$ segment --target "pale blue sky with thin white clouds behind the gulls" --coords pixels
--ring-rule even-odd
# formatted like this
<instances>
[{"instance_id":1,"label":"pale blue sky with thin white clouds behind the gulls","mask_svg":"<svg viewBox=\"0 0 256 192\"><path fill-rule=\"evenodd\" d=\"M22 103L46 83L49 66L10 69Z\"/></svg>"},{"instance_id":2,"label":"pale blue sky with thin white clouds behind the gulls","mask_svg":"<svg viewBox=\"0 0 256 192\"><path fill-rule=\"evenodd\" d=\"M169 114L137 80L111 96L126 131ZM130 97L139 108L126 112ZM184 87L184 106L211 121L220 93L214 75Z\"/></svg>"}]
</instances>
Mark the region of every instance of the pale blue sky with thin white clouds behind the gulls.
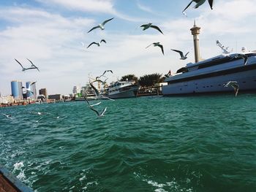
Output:
<instances>
[{"instance_id":1,"label":"pale blue sky with thin white clouds behind the gulls","mask_svg":"<svg viewBox=\"0 0 256 192\"><path fill-rule=\"evenodd\" d=\"M194 62L190 28L200 26L201 58L222 54L216 41L240 52L241 47L256 50L256 0L215 0L194 9L190 0L0 0L0 93L11 94L11 81L37 81L37 91L48 94L72 93L75 85L86 85L89 77L105 70L108 82L126 74L175 73ZM105 30L92 27L104 20ZM140 27L153 23L154 28ZM105 39L106 44L91 45ZM83 47L82 43L86 46ZM165 51L148 45L160 42ZM170 49L189 52L187 60ZM21 71L17 59L29 67L29 58L37 70Z\"/></svg>"}]
</instances>

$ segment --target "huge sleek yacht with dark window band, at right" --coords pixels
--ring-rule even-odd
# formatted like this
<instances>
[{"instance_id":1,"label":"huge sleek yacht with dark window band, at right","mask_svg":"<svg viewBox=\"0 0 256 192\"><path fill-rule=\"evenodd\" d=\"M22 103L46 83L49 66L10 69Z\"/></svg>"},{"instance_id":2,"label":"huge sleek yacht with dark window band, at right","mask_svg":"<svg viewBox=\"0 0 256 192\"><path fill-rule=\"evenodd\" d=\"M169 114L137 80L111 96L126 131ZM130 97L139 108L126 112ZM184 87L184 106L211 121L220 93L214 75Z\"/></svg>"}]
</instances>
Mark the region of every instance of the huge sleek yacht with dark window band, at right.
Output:
<instances>
[{"instance_id":1,"label":"huge sleek yacht with dark window band, at right","mask_svg":"<svg viewBox=\"0 0 256 192\"><path fill-rule=\"evenodd\" d=\"M246 60L247 59L247 60ZM224 87L236 81L239 91L256 91L256 51L230 53L189 63L165 79L163 96L233 91Z\"/></svg>"}]
</instances>

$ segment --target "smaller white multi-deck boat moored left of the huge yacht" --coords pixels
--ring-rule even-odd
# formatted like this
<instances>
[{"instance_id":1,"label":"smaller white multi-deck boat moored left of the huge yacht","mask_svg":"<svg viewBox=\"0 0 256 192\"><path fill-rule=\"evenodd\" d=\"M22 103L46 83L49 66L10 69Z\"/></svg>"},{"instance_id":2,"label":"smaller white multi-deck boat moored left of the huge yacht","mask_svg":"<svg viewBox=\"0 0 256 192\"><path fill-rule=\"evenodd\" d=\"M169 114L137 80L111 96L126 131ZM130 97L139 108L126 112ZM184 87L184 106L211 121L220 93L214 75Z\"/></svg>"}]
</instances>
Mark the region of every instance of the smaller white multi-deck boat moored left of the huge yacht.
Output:
<instances>
[{"instance_id":1,"label":"smaller white multi-deck boat moored left of the huge yacht","mask_svg":"<svg viewBox=\"0 0 256 192\"><path fill-rule=\"evenodd\" d=\"M105 96L110 99L121 99L137 96L139 91L139 85L136 85L133 81L116 81L111 82L110 85L105 88Z\"/></svg>"}]
</instances>

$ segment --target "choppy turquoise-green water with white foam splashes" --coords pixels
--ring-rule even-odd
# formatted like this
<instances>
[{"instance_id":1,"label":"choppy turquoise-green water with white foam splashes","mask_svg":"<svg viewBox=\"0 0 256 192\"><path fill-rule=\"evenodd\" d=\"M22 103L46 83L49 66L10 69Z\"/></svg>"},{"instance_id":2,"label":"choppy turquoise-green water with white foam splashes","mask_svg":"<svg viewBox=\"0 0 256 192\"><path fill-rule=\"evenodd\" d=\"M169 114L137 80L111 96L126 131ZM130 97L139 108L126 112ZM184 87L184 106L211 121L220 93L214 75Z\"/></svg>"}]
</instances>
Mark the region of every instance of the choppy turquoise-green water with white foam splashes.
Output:
<instances>
[{"instance_id":1,"label":"choppy turquoise-green water with white foam splashes","mask_svg":"<svg viewBox=\"0 0 256 192\"><path fill-rule=\"evenodd\" d=\"M0 116L0 164L34 191L256 191L255 94L103 107L1 108L13 119Z\"/></svg>"}]
</instances>

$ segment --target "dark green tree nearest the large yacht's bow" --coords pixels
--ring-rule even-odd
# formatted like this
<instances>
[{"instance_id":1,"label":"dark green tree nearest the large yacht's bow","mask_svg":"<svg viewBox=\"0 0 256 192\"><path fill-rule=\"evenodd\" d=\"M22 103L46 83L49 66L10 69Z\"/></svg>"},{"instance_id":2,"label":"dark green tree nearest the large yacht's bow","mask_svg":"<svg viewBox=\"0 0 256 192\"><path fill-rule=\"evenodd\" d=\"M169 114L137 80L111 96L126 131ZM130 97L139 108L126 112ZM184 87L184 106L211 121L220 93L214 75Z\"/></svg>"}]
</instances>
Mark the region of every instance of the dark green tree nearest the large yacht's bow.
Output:
<instances>
[{"instance_id":1,"label":"dark green tree nearest the large yacht's bow","mask_svg":"<svg viewBox=\"0 0 256 192\"><path fill-rule=\"evenodd\" d=\"M140 77L138 80L140 86L142 87L152 87L157 82L162 82L162 74L154 73L154 74L145 74L144 76Z\"/></svg>"}]
</instances>

